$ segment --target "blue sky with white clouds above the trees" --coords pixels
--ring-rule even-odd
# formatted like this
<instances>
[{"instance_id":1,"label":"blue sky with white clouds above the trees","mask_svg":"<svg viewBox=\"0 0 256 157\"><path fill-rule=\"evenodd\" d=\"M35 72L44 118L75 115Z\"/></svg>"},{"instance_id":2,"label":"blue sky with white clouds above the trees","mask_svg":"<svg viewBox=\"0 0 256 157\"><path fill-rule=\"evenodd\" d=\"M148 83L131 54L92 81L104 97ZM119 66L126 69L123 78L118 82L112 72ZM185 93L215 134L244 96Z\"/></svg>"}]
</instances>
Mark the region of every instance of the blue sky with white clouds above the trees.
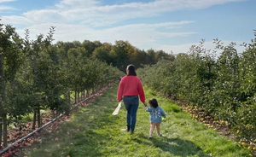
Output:
<instances>
[{"instance_id":1,"label":"blue sky with white clouds above the trees","mask_svg":"<svg viewBox=\"0 0 256 157\"><path fill-rule=\"evenodd\" d=\"M256 0L0 0L0 22L31 39L55 26L56 41L128 40L138 49L186 53L206 39L250 43Z\"/></svg>"}]
</instances>

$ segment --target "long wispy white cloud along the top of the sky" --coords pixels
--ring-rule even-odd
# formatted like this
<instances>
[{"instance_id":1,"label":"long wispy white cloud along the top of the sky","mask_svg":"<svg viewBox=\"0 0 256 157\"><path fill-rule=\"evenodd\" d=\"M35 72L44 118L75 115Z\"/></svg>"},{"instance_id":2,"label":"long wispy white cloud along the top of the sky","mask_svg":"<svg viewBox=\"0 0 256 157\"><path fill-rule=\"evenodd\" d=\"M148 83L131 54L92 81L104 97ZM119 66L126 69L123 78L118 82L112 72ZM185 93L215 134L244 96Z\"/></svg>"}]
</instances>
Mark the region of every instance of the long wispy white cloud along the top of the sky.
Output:
<instances>
[{"instance_id":1,"label":"long wispy white cloud along the top of the sky","mask_svg":"<svg viewBox=\"0 0 256 157\"><path fill-rule=\"evenodd\" d=\"M8 0L2 0L8 1ZM52 9L32 10L16 18L26 18L35 24L45 22L83 22L90 26L106 26L122 20L152 17L183 9L206 9L213 5L244 0L155 0L149 3L102 5L96 0L61 0ZM3 21L10 22L2 17Z\"/></svg>"}]
</instances>

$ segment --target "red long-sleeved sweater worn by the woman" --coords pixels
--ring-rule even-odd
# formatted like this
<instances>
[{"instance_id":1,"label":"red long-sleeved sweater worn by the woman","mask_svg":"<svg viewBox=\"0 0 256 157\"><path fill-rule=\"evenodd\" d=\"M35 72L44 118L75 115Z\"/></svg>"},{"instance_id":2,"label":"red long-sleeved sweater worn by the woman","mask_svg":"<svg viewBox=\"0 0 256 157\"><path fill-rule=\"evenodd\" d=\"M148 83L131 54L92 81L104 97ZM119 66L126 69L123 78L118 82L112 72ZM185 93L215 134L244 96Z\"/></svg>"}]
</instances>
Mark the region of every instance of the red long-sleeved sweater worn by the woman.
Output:
<instances>
[{"instance_id":1,"label":"red long-sleeved sweater worn by the woman","mask_svg":"<svg viewBox=\"0 0 256 157\"><path fill-rule=\"evenodd\" d=\"M117 99L122 101L123 96L140 96L141 101L145 102L143 84L137 76L125 76L119 84Z\"/></svg>"}]
</instances>

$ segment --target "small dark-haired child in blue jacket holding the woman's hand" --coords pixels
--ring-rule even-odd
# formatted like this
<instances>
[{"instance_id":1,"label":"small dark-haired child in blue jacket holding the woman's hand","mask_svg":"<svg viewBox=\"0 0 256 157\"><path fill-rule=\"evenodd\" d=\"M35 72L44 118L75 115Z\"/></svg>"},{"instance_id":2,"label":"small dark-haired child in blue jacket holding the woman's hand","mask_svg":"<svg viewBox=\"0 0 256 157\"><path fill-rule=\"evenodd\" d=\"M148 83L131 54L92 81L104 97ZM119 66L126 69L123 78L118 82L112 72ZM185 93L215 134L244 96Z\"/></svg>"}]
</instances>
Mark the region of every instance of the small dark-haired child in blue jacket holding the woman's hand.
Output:
<instances>
[{"instance_id":1,"label":"small dark-haired child in blue jacket holding the woman's hand","mask_svg":"<svg viewBox=\"0 0 256 157\"><path fill-rule=\"evenodd\" d=\"M154 132L154 127L156 126L157 130L157 135L162 136L160 134L160 123L162 121L161 117L163 116L166 118L166 113L160 106L158 106L158 103L156 99L150 99L149 104L151 108L146 107L146 111L150 112L150 122L151 122L151 127L149 131L149 138L153 137L153 132Z\"/></svg>"}]
</instances>

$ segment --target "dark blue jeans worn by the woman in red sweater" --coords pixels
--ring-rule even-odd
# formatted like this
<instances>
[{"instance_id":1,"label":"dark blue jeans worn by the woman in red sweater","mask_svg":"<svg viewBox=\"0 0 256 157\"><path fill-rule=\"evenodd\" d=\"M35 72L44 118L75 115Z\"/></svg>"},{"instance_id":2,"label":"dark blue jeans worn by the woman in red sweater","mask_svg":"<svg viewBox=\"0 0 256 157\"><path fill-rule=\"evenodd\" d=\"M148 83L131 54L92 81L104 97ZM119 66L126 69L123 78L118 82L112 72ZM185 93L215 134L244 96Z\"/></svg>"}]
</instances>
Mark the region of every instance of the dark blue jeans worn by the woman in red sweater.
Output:
<instances>
[{"instance_id":1,"label":"dark blue jeans worn by the woman in red sweater","mask_svg":"<svg viewBox=\"0 0 256 157\"><path fill-rule=\"evenodd\" d=\"M127 125L131 125L131 132L134 131L136 125L137 108L139 105L138 96L124 96L124 104L127 110Z\"/></svg>"}]
</instances>

